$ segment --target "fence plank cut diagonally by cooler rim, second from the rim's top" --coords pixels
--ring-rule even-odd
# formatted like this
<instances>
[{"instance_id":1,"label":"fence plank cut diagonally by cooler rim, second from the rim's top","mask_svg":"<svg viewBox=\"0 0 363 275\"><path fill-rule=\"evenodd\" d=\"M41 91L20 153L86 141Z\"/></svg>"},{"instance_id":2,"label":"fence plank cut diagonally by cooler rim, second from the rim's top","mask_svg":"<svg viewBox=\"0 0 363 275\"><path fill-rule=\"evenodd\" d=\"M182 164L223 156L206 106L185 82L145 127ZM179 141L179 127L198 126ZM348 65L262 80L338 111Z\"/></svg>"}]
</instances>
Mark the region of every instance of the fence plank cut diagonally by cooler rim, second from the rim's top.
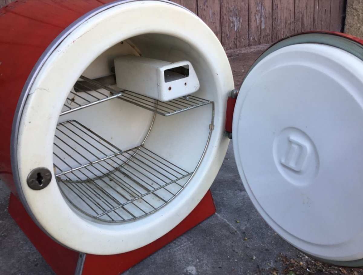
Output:
<instances>
[{"instance_id":1,"label":"fence plank cut diagonally by cooler rim, second from the rim's top","mask_svg":"<svg viewBox=\"0 0 363 275\"><path fill-rule=\"evenodd\" d=\"M219 0L197 0L198 16L221 41L221 13Z\"/></svg>"}]
</instances>

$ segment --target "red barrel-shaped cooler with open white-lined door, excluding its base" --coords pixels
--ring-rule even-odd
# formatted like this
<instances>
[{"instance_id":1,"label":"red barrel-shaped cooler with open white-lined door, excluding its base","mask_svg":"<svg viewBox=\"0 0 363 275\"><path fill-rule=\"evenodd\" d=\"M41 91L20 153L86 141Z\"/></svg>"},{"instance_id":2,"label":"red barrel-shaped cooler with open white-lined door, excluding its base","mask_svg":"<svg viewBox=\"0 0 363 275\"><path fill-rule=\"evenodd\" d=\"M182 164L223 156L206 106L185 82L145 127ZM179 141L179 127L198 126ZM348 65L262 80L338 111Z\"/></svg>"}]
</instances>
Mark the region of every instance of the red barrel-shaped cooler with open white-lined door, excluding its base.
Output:
<instances>
[{"instance_id":1,"label":"red barrel-shaped cooler with open white-lined door, excluding its base","mask_svg":"<svg viewBox=\"0 0 363 275\"><path fill-rule=\"evenodd\" d=\"M183 221L231 137L231 67L207 25L168 1L20 1L0 20L0 175L33 221L96 255ZM362 45L339 33L272 45L228 127L262 217L303 252L346 266L363 258Z\"/></svg>"}]
</instances>

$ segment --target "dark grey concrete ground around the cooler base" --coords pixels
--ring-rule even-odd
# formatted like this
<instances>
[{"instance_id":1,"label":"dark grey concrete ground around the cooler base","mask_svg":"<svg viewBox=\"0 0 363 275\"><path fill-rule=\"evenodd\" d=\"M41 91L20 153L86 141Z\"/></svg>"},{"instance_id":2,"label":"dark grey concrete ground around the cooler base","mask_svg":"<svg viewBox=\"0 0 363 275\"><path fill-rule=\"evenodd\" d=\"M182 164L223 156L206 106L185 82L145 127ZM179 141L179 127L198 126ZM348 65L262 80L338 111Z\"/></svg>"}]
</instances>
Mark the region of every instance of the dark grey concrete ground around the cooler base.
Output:
<instances>
[{"instance_id":1,"label":"dark grey concrete ground around the cooler base","mask_svg":"<svg viewBox=\"0 0 363 275\"><path fill-rule=\"evenodd\" d=\"M280 254L293 259L302 254L254 209L238 175L232 143L211 190L215 215L124 274L289 274L282 272ZM9 216L8 196L0 183L0 274L54 274Z\"/></svg>"}]
</instances>

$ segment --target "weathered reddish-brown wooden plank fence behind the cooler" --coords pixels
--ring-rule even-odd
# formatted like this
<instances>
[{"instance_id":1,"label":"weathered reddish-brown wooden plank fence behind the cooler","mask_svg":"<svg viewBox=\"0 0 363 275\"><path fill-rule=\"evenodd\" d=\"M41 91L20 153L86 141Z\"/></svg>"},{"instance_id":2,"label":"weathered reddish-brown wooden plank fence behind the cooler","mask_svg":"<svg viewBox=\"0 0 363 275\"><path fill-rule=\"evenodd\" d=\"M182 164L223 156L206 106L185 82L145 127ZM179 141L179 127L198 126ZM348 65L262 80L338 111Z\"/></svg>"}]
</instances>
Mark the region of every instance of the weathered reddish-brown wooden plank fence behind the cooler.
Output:
<instances>
[{"instance_id":1,"label":"weathered reddish-brown wooden plank fence behind the cooler","mask_svg":"<svg viewBox=\"0 0 363 275\"><path fill-rule=\"evenodd\" d=\"M0 8L14 0L0 0ZM35 1L35 0L33 0ZM238 87L254 60L293 33L343 31L346 0L172 0L198 15L226 50Z\"/></svg>"}]
</instances>

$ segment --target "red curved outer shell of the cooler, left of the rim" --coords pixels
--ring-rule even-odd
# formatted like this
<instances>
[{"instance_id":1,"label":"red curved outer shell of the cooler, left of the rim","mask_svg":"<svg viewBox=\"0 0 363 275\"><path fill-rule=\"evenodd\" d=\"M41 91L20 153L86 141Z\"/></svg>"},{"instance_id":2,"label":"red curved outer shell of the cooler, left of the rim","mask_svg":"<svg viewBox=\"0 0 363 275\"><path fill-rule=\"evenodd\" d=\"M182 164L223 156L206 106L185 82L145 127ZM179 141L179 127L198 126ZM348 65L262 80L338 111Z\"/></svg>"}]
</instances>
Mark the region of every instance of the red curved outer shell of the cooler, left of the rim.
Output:
<instances>
[{"instance_id":1,"label":"red curved outer shell of the cooler, left of the rim","mask_svg":"<svg viewBox=\"0 0 363 275\"><path fill-rule=\"evenodd\" d=\"M26 79L48 45L85 13L110 1L15 1L0 9L0 179L16 194L10 137Z\"/></svg>"}]
</instances>

